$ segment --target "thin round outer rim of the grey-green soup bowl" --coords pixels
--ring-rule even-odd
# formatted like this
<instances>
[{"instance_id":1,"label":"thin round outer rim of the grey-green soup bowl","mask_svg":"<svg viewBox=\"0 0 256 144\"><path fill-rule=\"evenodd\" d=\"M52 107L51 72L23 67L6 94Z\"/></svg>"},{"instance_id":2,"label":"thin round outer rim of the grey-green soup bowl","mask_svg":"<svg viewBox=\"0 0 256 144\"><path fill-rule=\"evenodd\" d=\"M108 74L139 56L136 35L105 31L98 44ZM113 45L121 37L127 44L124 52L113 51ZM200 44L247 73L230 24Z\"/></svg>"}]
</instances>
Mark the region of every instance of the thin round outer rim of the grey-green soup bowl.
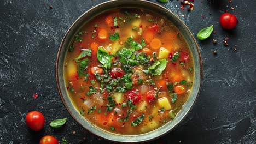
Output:
<instances>
[{"instance_id":1,"label":"thin round outer rim of the grey-green soup bowl","mask_svg":"<svg viewBox=\"0 0 256 144\"><path fill-rule=\"evenodd\" d=\"M62 91L61 91L61 86L60 86L60 81L59 81L59 72L58 72L58 70L59 70L60 55L61 55L60 53L61 53L62 49L65 49L65 48L63 47L63 44L64 44L64 41L66 40L67 36L69 35L69 32L71 31L71 29L74 28L75 24L76 24L80 19L82 19L82 17L83 17L84 15L86 15L89 11L91 11L91 10L93 10L93 9L96 9L97 7L100 7L100 6L104 5L104 4L112 3L112 2L118 2L118 1L119 1L119 0L110 0L110 1L107 1L107 2L103 2L103 3L97 4L95 7L90 8L89 10L85 11L82 15L80 15L80 16L72 23L72 25L68 28L67 32L65 33L65 36L63 37L63 39L62 39L62 41L61 41L61 44L60 44L60 47L59 47L59 51L57 52L57 59L56 59L56 66L55 66L55 79L56 79L56 83L57 83L57 89L58 89L58 93L59 93L59 95L60 95L60 97L61 97L62 103L63 103L63 105L66 107L66 109L67 109L69 115L71 115L72 118L73 118L79 125L81 125L84 129L86 129L86 130L89 131L90 133L92 133L92 134L94 134L94 135L96 135L96 136L98 136L98 137L101 137L101 138L104 139L104 140L114 141L114 142L129 142L129 143L132 142L132 143L138 143L138 142L152 141L152 140L158 139L159 137L162 137L162 136L168 134L170 131L172 131L173 129L175 129L182 121L184 121L185 117L187 117L188 114L190 113L190 111L193 109L193 106L195 105L196 100L197 100L197 98L199 97L200 90L201 90L201 85L202 85L202 78L203 78L203 75L202 75L203 67L202 67L201 53L200 53L199 46L198 46L198 44L197 44L197 42L196 42L196 40L195 40L195 38L194 38L194 36L193 36L193 33L190 32L190 30L189 30L189 28L187 27L187 25L185 25L185 23L184 23L181 19L179 19L179 17L178 17L176 14L172 13L171 10L169 10L169 9L167 9L167 8L165 8L165 7L163 7L162 5L159 5L159 4L154 3L154 2L146 1L146 0L125 0L125 1L129 1L129 2L138 2L138 1L140 1L140 2L144 2L144 3L148 3L148 4L153 4L153 5L155 5L155 7L159 7L159 8L161 8L161 9L164 9L165 11L167 11L168 13L170 13L170 15L172 15L173 17L175 17L176 20L177 20L179 23L182 23L182 25L185 27L185 31L187 31L187 32L190 34L190 36L191 36L191 38L192 38L192 40L193 40L193 42L194 42L194 44L195 44L196 51L197 51L197 55L198 55L198 57L199 57L199 65L200 65L200 77L199 77L199 78L200 78L200 80L199 80L200 85L199 85L199 89L198 89L198 91L197 91L197 93L196 93L196 95L195 95L195 99L194 99L194 101L193 101L193 104L190 105L189 109L185 112L185 115L183 115L182 118L179 119L179 121L178 121L172 128L168 129L168 131L166 131L165 133L163 133L163 134L161 134L161 135L159 135L159 136L155 136L155 137L153 137L153 138L151 138L151 139L146 139L146 140L138 140L138 141L118 141L118 140L108 139L107 137L103 137L103 136L101 136L101 135L98 135L98 134L94 133L94 131L91 131L91 130L89 130L88 128L84 127L84 125L78 121L78 118L75 117L75 115L73 114L73 112L69 109L68 105L66 104L65 99L63 98L63 95L62 95ZM113 8L113 9L114 9L114 8ZM185 39L186 39L186 38L185 38ZM191 48L190 48L190 49L191 49ZM195 71L194 71L194 73L195 73ZM159 129L159 128L158 128L158 129ZM103 131L105 131L105 130L103 130ZM112 133L110 133L110 134L112 134ZM147 133L146 133L146 134L147 134ZM116 134L116 135L118 135L118 134ZM125 136L125 135L123 135L123 136ZM130 135L129 135L129 136L130 136ZM135 135L135 136L136 136L136 135Z\"/></svg>"}]
</instances>

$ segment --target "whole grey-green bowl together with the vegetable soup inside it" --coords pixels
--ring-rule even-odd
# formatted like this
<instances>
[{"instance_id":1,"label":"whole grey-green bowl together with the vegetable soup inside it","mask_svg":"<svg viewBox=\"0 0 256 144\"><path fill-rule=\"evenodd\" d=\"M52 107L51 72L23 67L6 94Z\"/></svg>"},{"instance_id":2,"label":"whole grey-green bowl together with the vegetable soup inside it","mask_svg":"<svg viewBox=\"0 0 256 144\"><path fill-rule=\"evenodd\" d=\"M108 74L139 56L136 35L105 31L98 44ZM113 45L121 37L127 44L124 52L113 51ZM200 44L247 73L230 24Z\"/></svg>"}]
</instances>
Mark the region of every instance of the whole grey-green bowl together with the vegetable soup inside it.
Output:
<instances>
[{"instance_id":1,"label":"whole grey-green bowl together with the vegetable soup inside it","mask_svg":"<svg viewBox=\"0 0 256 144\"><path fill-rule=\"evenodd\" d=\"M170 10L148 1L108 1L68 29L56 81L83 128L110 141L144 142L188 115L202 62L193 34Z\"/></svg>"}]
</instances>

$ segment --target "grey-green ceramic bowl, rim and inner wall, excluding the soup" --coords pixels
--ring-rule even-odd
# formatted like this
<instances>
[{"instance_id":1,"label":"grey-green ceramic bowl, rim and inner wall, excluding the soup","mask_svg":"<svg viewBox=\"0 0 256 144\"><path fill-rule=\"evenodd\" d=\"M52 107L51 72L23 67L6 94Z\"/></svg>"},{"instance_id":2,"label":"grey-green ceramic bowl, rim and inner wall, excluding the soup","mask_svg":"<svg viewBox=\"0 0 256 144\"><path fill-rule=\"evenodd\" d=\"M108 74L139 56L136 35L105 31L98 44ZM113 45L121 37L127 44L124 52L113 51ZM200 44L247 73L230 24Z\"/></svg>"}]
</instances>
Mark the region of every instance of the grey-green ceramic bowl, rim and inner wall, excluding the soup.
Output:
<instances>
[{"instance_id":1,"label":"grey-green ceramic bowl, rim and inner wall, excluding the soup","mask_svg":"<svg viewBox=\"0 0 256 144\"><path fill-rule=\"evenodd\" d=\"M153 11L156 14L166 17L167 20L171 21L182 33L188 45L190 46L191 53L194 58L194 82L193 89L191 91L188 101L184 104L183 109L179 111L176 118L173 121L166 123L164 126L150 131L145 134L139 135L120 135L110 133L106 130L96 127L96 125L91 124L86 118L80 115L79 111L75 109L75 106L72 104L72 100L69 98L67 93L66 85L64 82L64 62L65 56L68 51L68 46L71 43L75 33L91 19L94 19L98 14L104 13L105 11L116 9L116 8L142 8ZM91 8L82 14L68 29L64 38L62 39L59 52L57 54L56 62L56 81L59 94L65 105L66 109L70 115L77 121L83 128L90 131L91 133L102 137L103 139L114 141L114 142L145 142L159 138L173 130L177 127L179 123L188 115L192 109L195 101L199 95L201 82L202 82L202 61L200 56L199 47L196 44L196 40L193 37L193 34L189 31L188 27L170 10L162 7L161 5L155 4L149 1L140 1L140 0L114 0L108 1L101 4L98 4L96 7Z\"/></svg>"}]
</instances>

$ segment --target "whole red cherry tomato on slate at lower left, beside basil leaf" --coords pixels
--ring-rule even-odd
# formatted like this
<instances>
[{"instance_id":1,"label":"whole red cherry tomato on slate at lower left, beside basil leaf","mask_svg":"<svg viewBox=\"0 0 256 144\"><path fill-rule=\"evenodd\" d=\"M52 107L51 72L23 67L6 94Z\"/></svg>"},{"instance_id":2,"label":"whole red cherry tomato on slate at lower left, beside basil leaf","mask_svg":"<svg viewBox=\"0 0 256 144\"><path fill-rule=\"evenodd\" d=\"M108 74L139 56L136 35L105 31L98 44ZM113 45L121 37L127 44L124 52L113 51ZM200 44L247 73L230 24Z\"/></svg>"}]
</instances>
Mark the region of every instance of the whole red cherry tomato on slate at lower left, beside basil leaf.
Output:
<instances>
[{"instance_id":1,"label":"whole red cherry tomato on slate at lower left, beside basil leaf","mask_svg":"<svg viewBox=\"0 0 256 144\"><path fill-rule=\"evenodd\" d=\"M31 111L26 116L27 126L34 130L39 131L44 127L44 115L38 111Z\"/></svg>"}]
</instances>

